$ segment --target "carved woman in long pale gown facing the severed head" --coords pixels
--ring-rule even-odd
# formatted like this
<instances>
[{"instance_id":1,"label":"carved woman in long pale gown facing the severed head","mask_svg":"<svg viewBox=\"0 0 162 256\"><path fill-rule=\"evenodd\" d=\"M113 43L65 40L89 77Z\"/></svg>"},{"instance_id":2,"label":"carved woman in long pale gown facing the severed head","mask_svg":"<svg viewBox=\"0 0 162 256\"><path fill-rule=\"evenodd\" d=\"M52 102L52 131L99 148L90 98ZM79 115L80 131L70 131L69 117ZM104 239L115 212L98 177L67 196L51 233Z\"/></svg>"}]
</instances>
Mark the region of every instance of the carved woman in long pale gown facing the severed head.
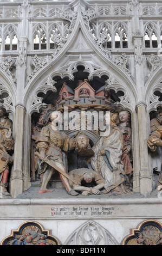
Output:
<instances>
[{"instance_id":1,"label":"carved woman in long pale gown facing the severed head","mask_svg":"<svg viewBox=\"0 0 162 256\"><path fill-rule=\"evenodd\" d=\"M124 140L122 132L116 125L118 114L111 114L111 129L105 132L96 145L93 146L94 156L91 157L92 168L102 175L106 181L106 193L131 193L125 186L126 174L121 161ZM109 122L105 117L105 123ZM106 134L107 133L107 134Z\"/></svg>"}]
</instances>

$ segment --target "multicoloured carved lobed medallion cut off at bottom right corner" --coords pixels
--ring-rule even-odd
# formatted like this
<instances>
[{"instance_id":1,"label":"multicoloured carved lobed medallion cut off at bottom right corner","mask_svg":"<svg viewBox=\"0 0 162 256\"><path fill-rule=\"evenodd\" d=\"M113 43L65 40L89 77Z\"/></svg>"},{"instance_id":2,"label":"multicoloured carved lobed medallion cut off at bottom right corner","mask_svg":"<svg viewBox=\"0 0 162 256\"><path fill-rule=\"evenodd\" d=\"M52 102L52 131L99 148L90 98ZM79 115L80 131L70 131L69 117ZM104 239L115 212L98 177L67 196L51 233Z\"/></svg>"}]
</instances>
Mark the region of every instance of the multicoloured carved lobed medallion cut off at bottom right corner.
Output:
<instances>
[{"instance_id":1,"label":"multicoloured carved lobed medallion cut off at bottom right corner","mask_svg":"<svg viewBox=\"0 0 162 256\"><path fill-rule=\"evenodd\" d=\"M147 220L130 229L130 234L124 237L120 245L153 245L157 243L162 231L162 224L158 221ZM139 235L142 237L139 238ZM139 240L138 240L139 239Z\"/></svg>"}]
</instances>

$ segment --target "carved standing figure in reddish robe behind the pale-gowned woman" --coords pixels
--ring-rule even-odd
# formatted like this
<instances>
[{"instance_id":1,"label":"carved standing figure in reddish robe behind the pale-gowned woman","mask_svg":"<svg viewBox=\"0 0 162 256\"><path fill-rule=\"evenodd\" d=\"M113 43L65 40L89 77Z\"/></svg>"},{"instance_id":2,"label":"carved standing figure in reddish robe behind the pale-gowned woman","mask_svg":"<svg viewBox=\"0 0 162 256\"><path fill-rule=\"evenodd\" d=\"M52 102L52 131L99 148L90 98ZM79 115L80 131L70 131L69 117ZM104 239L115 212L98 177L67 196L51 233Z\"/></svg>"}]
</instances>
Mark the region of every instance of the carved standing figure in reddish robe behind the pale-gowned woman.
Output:
<instances>
[{"instance_id":1,"label":"carved standing figure in reddish robe behind the pale-gowned woman","mask_svg":"<svg viewBox=\"0 0 162 256\"><path fill-rule=\"evenodd\" d=\"M119 113L119 129L122 132L123 139L124 139L124 145L122 149L122 156L121 160L124 164L124 170L126 175L129 179L129 185L131 185L132 181L132 175L133 175L133 168L131 163L131 149L132 149L132 130L128 126L129 122L129 112L128 111L121 111Z\"/></svg>"}]
</instances>

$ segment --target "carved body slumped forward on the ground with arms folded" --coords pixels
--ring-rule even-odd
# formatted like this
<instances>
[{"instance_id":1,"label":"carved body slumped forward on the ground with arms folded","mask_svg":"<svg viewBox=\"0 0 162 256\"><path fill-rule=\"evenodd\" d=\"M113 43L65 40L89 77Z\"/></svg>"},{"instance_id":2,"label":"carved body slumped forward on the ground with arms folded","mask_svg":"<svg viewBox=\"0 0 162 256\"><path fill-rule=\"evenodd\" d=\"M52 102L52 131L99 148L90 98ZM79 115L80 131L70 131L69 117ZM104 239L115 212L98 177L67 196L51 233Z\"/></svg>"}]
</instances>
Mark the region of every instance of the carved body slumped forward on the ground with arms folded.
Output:
<instances>
[{"instance_id":1,"label":"carved body slumped forward on the ground with arms folded","mask_svg":"<svg viewBox=\"0 0 162 256\"><path fill-rule=\"evenodd\" d=\"M69 181L70 185L75 191L81 191L83 196L88 196L89 194L101 194L100 190L105 185L105 180L103 180L102 176L92 169L74 169L69 172L69 176L76 181L76 184Z\"/></svg>"}]
</instances>

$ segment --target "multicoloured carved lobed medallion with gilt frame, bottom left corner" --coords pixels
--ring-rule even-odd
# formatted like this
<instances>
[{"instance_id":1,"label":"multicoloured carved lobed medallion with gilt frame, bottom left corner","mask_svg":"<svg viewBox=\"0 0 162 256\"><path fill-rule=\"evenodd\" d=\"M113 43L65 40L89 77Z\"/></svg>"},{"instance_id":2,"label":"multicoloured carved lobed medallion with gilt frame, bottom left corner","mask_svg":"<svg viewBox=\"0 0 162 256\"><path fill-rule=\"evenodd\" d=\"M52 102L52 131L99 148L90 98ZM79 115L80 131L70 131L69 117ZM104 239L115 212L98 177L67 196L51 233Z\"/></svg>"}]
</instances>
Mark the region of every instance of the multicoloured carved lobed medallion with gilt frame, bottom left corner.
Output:
<instances>
[{"instance_id":1,"label":"multicoloured carved lobed medallion with gilt frame, bottom left corner","mask_svg":"<svg viewBox=\"0 0 162 256\"><path fill-rule=\"evenodd\" d=\"M25 237L25 231L36 231L36 229L38 230L37 235L36 237L34 237L34 239L30 241L31 243L33 243L32 245L37 245L41 234L44 235L44 240L46 240L49 245L61 245L60 241L56 237L51 235L50 230L45 230L40 223L33 221L24 222L20 225L20 227L18 227L17 230L11 230L11 235L5 237L0 245L12 245L14 240L18 239L18 237Z\"/></svg>"}]
</instances>

